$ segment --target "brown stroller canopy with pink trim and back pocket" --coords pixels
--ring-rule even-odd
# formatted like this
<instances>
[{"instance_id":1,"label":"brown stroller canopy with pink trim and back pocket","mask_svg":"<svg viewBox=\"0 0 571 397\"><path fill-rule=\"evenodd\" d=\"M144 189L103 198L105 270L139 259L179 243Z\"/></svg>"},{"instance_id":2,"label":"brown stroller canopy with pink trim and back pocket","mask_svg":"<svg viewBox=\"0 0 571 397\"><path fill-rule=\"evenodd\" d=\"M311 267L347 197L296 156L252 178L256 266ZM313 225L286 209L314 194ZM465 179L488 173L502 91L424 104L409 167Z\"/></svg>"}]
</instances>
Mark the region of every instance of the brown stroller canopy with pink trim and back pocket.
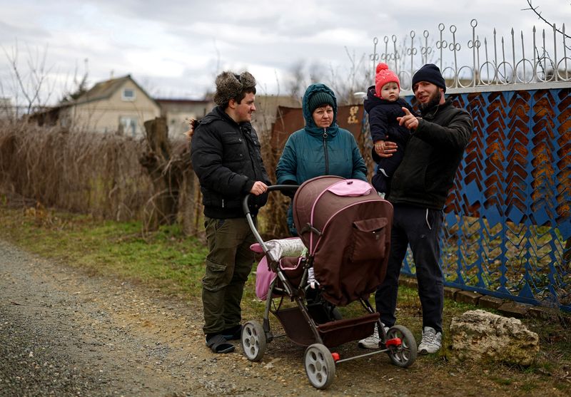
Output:
<instances>
[{"instance_id":1,"label":"brown stroller canopy with pink trim and back pocket","mask_svg":"<svg viewBox=\"0 0 571 397\"><path fill-rule=\"evenodd\" d=\"M393 206L367 182L335 176L304 182L293 200L293 221L325 299L344 306L383 282Z\"/></svg>"}]
</instances>

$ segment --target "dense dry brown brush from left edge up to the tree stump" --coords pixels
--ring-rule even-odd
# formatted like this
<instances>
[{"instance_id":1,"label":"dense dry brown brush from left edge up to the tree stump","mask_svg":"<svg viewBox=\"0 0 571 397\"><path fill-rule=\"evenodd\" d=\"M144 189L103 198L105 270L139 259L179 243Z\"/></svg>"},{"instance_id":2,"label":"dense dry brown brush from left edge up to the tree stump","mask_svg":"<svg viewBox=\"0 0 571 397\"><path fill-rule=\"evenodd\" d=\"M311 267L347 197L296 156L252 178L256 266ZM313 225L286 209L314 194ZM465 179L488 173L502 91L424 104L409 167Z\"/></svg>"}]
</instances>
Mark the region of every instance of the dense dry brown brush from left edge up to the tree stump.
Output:
<instances>
[{"instance_id":1,"label":"dense dry brown brush from left edge up to the tree stump","mask_svg":"<svg viewBox=\"0 0 571 397\"><path fill-rule=\"evenodd\" d=\"M0 188L48 207L138 219L152 195L138 163L143 148L118 135L0 125Z\"/></svg>"}]
</instances>

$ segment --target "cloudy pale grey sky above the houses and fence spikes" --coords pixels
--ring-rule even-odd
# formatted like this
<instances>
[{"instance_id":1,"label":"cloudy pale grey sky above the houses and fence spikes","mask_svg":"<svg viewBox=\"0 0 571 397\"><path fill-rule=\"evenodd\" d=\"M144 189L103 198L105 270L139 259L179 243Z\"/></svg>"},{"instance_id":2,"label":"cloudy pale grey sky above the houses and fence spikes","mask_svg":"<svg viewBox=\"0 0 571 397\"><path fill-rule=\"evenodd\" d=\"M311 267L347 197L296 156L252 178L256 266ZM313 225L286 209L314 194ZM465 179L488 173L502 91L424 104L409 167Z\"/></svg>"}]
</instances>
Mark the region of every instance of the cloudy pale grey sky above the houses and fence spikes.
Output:
<instances>
[{"instance_id":1,"label":"cloudy pale grey sky above the houses and fence spikes","mask_svg":"<svg viewBox=\"0 0 571 397\"><path fill-rule=\"evenodd\" d=\"M530 1L571 33L571 0ZM528 8L527 0L0 0L0 96L15 98L10 61L29 78L44 56L51 103L86 72L89 86L130 73L153 96L198 99L217 72L247 69L262 91L278 93L296 63L343 75L348 53L357 61L372 53L375 36L432 38L439 24L448 34L455 24L466 47L472 19L490 41L493 29L547 29Z\"/></svg>"}]
</instances>

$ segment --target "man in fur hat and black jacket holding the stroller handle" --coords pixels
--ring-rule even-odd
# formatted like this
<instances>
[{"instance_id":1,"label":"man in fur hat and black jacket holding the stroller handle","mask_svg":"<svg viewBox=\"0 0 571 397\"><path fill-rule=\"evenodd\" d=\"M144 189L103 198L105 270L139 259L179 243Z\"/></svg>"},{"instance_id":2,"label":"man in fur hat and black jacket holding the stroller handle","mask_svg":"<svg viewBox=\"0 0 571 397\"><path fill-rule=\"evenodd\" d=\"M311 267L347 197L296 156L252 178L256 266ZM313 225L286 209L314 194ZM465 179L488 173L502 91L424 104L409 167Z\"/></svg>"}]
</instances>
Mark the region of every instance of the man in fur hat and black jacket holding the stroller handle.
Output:
<instances>
[{"instance_id":1,"label":"man in fur hat and black jacket holding the stroller handle","mask_svg":"<svg viewBox=\"0 0 571 397\"><path fill-rule=\"evenodd\" d=\"M229 341L241 337L241 300L252 269L256 242L242 210L251 193L256 222L266 204L270 181L260 143L251 125L256 111L256 79L248 72L225 71L216 77L216 108L196 125L191 160L200 180L208 240L203 278L203 331L214 353L231 353Z\"/></svg>"}]
</instances>

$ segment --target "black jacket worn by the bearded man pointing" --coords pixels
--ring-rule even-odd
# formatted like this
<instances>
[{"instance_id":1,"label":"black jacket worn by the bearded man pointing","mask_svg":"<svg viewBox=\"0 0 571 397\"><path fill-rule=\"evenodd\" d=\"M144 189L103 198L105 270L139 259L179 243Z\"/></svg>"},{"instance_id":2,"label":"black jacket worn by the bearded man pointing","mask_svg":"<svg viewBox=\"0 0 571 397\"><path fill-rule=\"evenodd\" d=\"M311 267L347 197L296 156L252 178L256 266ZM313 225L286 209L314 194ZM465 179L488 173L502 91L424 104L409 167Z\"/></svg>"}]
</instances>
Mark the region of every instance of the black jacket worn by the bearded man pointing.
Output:
<instances>
[{"instance_id":1,"label":"black jacket worn by the bearded man pointing","mask_svg":"<svg viewBox=\"0 0 571 397\"><path fill-rule=\"evenodd\" d=\"M473 129L470 113L450 100L423 111L393 175L388 200L442 210Z\"/></svg>"}]
</instances>

